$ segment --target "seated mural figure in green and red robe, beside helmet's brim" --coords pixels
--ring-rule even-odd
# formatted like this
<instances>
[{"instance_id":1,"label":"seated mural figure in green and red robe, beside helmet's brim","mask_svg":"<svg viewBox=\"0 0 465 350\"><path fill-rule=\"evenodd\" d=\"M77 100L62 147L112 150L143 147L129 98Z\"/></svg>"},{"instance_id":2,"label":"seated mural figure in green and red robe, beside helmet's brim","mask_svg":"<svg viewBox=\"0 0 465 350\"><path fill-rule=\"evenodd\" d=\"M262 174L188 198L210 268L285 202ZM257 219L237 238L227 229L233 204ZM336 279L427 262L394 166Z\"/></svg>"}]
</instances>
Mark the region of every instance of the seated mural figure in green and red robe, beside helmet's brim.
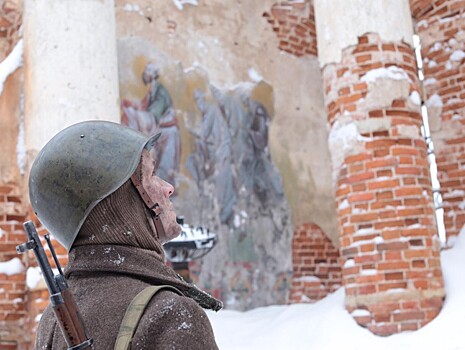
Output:
<instances>
[{"instance_id":1,"label":"seated mural figure in green and red robe, beside helmet's brim","mask_svg":"<svg viewBox=\"0 0 465 350\"><path fill-rule=\"evenodd\" d=\"M181 138L178 120L171 96L159 81L159 69L149 63L142 74L143 83L149 87L140 102L123 100L122 123L147 135L161 132L155 148L156 172L163 180L176 185L181 156Z\"/></svg>"}]
</instances>

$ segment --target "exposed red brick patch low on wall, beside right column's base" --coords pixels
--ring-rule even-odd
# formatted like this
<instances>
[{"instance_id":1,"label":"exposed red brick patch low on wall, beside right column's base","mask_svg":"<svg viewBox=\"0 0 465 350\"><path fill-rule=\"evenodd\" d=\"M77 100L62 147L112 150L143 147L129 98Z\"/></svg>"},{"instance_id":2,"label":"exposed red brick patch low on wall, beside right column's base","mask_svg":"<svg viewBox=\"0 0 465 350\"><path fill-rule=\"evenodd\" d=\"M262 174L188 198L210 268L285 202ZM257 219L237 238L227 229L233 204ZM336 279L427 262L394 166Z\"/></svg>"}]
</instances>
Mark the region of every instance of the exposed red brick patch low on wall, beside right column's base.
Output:
<instances>
[{"instance_id":1,"label":"exposed red brick patch low on wall, beside right column's base","mask_svg":"<svg viewBox=\"0 0 465 350\"><path fill-rule=\"evenodd\" d=\"M315 224L296 228L292 240L290 303L314 302L342 284L339 251Z\"/></svg>"}]
</instances>

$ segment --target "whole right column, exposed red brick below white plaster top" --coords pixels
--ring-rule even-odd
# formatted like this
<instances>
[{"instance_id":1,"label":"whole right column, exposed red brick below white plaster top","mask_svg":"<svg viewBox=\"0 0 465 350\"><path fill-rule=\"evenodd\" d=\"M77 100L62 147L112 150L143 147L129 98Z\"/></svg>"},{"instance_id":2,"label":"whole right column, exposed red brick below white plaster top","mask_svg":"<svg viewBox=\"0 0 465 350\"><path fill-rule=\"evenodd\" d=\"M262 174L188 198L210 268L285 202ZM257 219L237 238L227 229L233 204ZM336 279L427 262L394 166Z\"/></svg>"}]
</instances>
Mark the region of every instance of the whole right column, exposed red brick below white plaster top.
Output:
<instances>
[{"instance_id":1,"label":"whole right column, exposed red brick below white plaster top","mask_svg":"<svg viewBox=\"0 0 465 350\"><path fill-rule=\"evenodd\" d=\"M379 335L444 297L407 0L315 0L346 307Z\"/></svg>"}]
</instances>

